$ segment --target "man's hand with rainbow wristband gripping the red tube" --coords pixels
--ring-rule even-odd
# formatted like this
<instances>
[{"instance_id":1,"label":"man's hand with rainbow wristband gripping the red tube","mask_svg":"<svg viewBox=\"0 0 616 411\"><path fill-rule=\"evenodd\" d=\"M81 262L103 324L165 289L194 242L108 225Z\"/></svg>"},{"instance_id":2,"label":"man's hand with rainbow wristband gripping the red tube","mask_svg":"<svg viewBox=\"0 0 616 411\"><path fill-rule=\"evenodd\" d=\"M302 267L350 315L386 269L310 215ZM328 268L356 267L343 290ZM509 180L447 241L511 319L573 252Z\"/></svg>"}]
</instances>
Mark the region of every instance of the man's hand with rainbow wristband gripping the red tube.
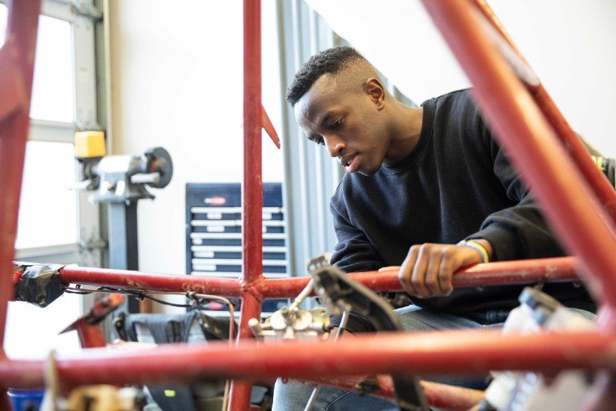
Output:
<instances>
[{"instance_id":1,"label":"man's hand with rainbow wristband gripping the red tube","mask_svg":"<svg viewBox=\"0 0 616 411\"><path fill-rule=\"evenodd\" d=\"M486 240L476 240L484 245L489 256L492 247ZM449 295L452 275L458 269L482 262L481 253L464 245L422 244L413 245L400 266L398 279L410 295L428 298Z\"/></svg>"}]
</instances>

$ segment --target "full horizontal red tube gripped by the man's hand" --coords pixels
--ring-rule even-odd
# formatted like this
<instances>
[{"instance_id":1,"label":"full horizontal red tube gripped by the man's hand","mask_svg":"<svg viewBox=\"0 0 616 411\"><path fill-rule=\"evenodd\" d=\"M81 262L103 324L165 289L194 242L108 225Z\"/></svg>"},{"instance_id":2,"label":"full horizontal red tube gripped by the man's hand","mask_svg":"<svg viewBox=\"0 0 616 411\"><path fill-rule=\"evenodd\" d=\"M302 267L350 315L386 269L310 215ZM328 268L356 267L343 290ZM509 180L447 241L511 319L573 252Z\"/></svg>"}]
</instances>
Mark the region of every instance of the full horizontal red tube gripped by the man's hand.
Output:
<instances>
[{"instance_id":1,"label":"full horizontal red tube gripped by the man's hand","mask_svg":"<svg viewBox=\"0 0 616 411\"><path fill-rule=\"evenodd\" d=\"M578 279L575 257L538 258L475 264L454 274L455 287L493 286L500 284L533 284L540 281L573 281ZM19 273L14 273L16 277ZM133 288L160 292L195 291L224 297L241 297L247 284L238 279L144 273L115 269L64 266L62 282L113 288ZM373 291L402 290L396 267L382 271L349 273L349 277ZM257 299L295 297L308 284L309 277L264 278L251 282L248 295Z\"/></svg>"}]
</instances>

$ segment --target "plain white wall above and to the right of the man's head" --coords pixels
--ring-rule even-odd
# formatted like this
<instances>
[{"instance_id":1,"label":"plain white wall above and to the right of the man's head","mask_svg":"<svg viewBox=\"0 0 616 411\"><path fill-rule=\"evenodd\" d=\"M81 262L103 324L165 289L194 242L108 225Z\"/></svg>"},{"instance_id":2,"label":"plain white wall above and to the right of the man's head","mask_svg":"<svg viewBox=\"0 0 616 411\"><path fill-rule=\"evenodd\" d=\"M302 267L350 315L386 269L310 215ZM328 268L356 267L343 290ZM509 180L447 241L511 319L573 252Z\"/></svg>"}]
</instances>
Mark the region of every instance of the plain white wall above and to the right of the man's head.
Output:
<instances>
[{"instance_id":1,"label":"plain white wall above and to the right of the man's head","mask_svg":"<svg viewBox=\"0 0 616 411\"><path fill-rule=\"evenodd\" d=\"M421 103L469 85L419 0L307 0ZM616 1L487 0L574 129L616 157Z\"/></svg>"}]
</instances>

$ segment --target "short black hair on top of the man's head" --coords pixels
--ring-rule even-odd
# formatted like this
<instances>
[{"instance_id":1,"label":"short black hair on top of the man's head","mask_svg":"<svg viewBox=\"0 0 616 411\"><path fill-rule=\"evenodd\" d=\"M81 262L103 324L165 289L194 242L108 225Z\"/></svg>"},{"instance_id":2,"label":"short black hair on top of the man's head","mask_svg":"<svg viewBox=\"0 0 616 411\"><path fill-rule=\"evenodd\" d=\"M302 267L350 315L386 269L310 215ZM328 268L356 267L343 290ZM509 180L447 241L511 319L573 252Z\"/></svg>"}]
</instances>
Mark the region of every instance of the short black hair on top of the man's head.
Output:
<instances>
[{"instance_id":1,"label":"short black hair on top of the man's head","mask_svg":"<svg viewBox=\"0 0 616 411\"><path fill-rule=\"evenodd\" d=\"M319 77L325 73L339 73L346 67L347 62L356 59L365 60L363 55L350 46L331 47L313 55L295 73L293 82L287 88L287 103L294 107Z\"/></svg>"}]
</instances>

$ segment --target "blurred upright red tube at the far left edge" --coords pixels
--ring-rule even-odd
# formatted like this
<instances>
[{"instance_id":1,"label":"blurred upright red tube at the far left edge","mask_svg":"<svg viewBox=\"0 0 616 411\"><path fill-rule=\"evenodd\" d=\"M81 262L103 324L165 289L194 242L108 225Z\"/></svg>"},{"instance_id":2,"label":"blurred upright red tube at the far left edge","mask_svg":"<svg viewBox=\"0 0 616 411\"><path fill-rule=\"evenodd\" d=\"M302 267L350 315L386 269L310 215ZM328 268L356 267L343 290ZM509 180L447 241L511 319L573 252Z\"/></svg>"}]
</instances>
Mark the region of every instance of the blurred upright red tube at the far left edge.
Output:
<instances>
[{"instance_id":1,"label":"blurred upright red tube at the far left edge","mask_svg":"<svg viewBox=\"0 0 616 411\"><path fill-rule=\"evenodd\" d=\"M11 58L3 62L16 67L21 73L22 84L14 86L9 95L3 99L17 99L21 110L0 119L0 341L4 341L7 301L12 299L11 277L14 258L15 236L17 232L17 215L19 196L21 194L21 175L23 159L28 137L30 95L32 93L32 76L34 73L34 51L38 31L38 14L40 0L12 1L8 5L7 42L12 42L16 53L3 54ZM16 177L17 176L17 177ZM0 347L0 358L4 358ZM0 404L1 405L1 404Z\"/></svg>"}]
</instances>

